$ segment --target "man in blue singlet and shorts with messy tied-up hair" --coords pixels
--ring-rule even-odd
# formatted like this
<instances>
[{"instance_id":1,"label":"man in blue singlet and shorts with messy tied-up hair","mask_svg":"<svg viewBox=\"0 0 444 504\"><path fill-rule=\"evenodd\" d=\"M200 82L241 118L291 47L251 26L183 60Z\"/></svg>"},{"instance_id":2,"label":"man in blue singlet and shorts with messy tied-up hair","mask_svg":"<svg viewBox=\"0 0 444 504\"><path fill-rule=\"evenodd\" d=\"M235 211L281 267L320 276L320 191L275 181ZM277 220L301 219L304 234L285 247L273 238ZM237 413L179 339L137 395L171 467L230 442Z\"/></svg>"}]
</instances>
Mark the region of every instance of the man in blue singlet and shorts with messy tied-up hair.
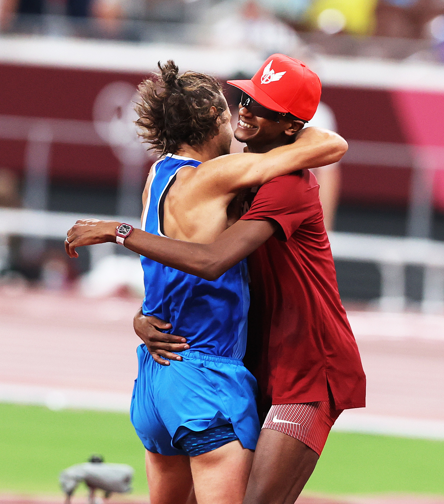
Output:
<instances>
[{"instance_id":1,"label":"man in blue singlet and shorts with messy tied-up hair","mask_svg":"<svg viewBox=\"0 0 444 504\"><path fill-rule=\"evenodd\" d=\"M232 130L216 81L193 72L177 76L172 62L161 68L159 80L141 86L138 123L165 157L148 177L142 230L124 239L141 255L147 231L213 242L237 219L230 202L244 188L329 164L345 152L337 135L307 129L296 142L265 154L224 156ZM302 123L294 117L284 123L293 142ZM77 257L76 246L116 241L119 225L78 221L68 231L67 253ZM171 322L170 332L186 337L193 348L169 366L156 363L145 345L138 349L132 421L147 448L151 502L184 504L194 482L199 504L240 504L259 434L256 384L240 360L248 308L245 264L235 264L216 280L144 257L142 265L143 312Z\"/></svg>"}]
</instances>

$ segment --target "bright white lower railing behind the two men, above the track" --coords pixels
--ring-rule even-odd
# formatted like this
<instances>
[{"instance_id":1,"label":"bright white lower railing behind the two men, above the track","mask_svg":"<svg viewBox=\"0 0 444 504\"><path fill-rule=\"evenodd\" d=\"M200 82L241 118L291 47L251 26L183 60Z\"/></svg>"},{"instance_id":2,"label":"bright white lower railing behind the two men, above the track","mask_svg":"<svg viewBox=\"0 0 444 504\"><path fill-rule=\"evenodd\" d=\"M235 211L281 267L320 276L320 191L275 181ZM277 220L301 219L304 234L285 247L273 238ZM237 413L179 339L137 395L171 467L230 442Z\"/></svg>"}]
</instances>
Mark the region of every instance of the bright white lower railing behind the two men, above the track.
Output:
<instances>
[{"instance_id":1,"label":"bright white lower railing behind the two men, above the track","mask_svg":"<svg viewBox=\"0 0 444 504\"><path fill-rule=\"evenodd\" d=\"M128 222L140 227L138 219L106 215L86 215L40 210L0 209L0 264L7 260L7 240L10 235L40 238L66 237L67 230L78 220L99 218ZM425 268L423 298L424 312L441 311L444 308L444 242L423 238L374 236L358 233L329 233L333 257L344 261L373 262L381 274L379 306L386 311L402 310L406 305L405 267L418 265ZM3 245L2 245L3 243ZM89 247L91 265L94 268L106 255L114 253L112 243Z\"/></svg>"}]
</instances>

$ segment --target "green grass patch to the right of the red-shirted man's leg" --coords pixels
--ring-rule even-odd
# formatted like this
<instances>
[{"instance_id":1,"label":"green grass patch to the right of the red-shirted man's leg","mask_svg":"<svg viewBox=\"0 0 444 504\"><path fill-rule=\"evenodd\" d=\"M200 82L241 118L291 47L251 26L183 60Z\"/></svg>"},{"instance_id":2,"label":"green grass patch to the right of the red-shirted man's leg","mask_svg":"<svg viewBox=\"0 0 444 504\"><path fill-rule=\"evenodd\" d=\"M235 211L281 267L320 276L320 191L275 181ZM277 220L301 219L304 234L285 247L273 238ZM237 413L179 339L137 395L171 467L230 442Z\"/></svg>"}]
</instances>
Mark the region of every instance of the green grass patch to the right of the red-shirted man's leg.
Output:
<instances>
[{"instance_id":1,"label":"green grass patch to the right of the red-shirted man's leg","mask_svg":"<svg viewBox=\"0 0 444 504\"><path fill-rule=\"evenodd\" d=\"M331 432L306 490L444 495L444 442Z\"/></svg>"}]
</instances>

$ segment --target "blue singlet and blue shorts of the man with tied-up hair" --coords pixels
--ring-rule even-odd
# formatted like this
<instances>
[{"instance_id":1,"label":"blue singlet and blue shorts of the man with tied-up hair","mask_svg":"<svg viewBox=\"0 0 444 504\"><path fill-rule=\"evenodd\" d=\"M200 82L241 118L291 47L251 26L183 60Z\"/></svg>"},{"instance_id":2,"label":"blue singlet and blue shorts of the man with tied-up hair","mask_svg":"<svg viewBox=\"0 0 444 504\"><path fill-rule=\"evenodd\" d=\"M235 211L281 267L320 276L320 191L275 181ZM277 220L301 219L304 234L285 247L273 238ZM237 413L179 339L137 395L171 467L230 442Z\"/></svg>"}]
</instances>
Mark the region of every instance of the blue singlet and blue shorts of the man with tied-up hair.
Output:
<instances>
[{"instance_id":1,"label":"blue singlet and blue shorts of the man with tied-up hair","mask_svg":"<svg viewBox=\"0 0 444 504\"><path fill-rule=\"evenodd\" d=\"M167 154L153 166L143 226L164 236L163 204L175 176L200 162ZM141 257L145 279L143 313L169 322L168 332L187 338L182 361L157 364L138 348L139 374L131 420L147 450L184 454L180 439L231 423L244 448L259 436L256 380L243 366L249 294L246 260L214 281Z\"/></svg>"}]
</instances>

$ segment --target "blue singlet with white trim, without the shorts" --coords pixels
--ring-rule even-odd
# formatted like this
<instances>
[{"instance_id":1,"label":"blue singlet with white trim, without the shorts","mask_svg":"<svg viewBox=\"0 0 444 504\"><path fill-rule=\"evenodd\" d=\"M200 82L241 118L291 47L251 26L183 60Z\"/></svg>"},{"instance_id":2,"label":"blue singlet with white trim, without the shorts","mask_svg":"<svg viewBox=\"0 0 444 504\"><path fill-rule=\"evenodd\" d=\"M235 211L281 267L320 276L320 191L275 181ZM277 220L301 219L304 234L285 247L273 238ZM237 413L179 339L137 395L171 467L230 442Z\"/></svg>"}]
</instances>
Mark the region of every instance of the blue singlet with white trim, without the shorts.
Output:
<instances>
[{"instance_id":1,"label":"blue singlet with white trim, without the shorts","mask_svg":"<svg viewBox=\"0 0 444 504\"><path fill-rule=\"evenodd\" d=\"M181 168L199 164L195 159L167 154L152 166L142 229L164 236L163 205L168 190ZM192 350L243 357L249 307L246 260L214 281L163 266L144 256L141 262L145 315L169 322L172 325L169 332L187 338Z\"/></svg>"}]
</instances>

